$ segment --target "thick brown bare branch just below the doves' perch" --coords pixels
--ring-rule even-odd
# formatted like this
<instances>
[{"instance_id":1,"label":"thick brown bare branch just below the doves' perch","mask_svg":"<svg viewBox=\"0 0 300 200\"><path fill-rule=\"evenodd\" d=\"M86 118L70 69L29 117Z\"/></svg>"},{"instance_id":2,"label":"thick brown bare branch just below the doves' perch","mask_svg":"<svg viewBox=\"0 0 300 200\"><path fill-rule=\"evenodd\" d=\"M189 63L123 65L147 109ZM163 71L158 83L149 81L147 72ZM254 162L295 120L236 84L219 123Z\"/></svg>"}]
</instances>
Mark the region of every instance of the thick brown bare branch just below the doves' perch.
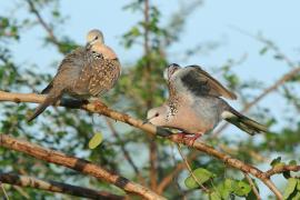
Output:
<instances>
[{"instance_id":1,"label":"thick brown bare branch just below the doves' perch","mask_svg":"<svg viewBox=\"0 0 300 200\"><path fill-rule=\"evenodd\" d=\"M87 160L70 157L59 151L46 149L27 141L21 141L3 133L0 134L0 147L20 151L30 154L37 159L52 162L59 166L64 166L72 170L90 174L99 180L112 183L129 193L141 196L144 199L164 199L161 196L152 192L148 188L144 188L136 182L120 177L117 173L109 172L103 168L93 164Z\"/></svg>"}]
</instances>

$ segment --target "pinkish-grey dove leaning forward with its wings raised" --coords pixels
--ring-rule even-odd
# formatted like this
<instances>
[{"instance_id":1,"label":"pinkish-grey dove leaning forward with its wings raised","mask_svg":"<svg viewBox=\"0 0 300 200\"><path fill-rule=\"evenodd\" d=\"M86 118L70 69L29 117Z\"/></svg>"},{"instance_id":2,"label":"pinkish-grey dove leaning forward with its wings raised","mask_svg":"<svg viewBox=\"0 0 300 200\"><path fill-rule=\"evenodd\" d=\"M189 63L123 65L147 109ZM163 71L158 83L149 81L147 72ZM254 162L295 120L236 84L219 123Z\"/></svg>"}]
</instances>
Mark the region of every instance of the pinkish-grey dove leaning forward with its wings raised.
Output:
<instances>
[{"instance_id":1,"label":"pinkish-grey dove leaning forward with its wings raised","mask_svg":"<svg viewBox=\"0 0 300 200\"><path fill-rule=\"evenodd\" d=\"M237 99L199 66L181 68L173 63L164 71L169 86L169 99L161 107L148 111L149 122L183 131L192 142L212 130L220 120L237 126L249 134L267 132L267 128L230 107L221 97ZM187 133L187 134L184 134Z\"/></svg>"}]
</instances>

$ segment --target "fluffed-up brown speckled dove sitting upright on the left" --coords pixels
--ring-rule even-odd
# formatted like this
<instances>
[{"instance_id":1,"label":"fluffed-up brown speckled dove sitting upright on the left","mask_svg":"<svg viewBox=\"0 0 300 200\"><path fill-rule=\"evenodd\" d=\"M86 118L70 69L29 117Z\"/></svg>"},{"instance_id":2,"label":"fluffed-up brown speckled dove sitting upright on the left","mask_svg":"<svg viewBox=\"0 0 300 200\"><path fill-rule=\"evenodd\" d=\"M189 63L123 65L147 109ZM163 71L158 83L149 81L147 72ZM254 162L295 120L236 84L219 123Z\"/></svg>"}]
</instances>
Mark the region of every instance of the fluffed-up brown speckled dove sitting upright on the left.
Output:
<instances>
[{"instance_id":1,"label":"fluffed-up brown speckled dove sitting upright on the left","mask_svg":"<svg viewBox=\"0 0 300 200\"><path fill-rule=\"evenodd\" d=\"M111 48L104 44L103 34L91 30L86 47L79 47L64 57L58 72L41 93L47 93L42 102L28 119L37 118L50 104L54 104L63 94L87 100L100 97L117 82L121 64Z\"/></svg>"}]
</instances>

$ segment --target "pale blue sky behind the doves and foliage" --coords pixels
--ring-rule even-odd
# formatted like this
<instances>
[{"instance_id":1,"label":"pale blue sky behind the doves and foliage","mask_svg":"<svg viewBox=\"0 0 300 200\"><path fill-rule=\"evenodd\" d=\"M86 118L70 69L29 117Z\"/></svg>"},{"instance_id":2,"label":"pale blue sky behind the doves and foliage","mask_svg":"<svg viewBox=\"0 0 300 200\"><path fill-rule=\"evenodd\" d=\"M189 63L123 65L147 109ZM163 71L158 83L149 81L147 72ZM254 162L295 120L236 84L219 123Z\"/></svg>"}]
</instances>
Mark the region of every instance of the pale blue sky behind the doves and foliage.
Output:
<instances>
[{"instance_id":1,"label":"pale blue sky behind the doves and foliage","mask_svg":"<svg viewBox=\"0 0 300 200\"><path fill-rule=\"evenodd\" d=\"M19 0L1 1L0 13L11 13L11 9L20 2ZM128 2L126 0L62 0L61 10L69 18L66 26L59 28L59 32L83 44L88 30L101 29L104 32L106 42L117 51L122 63L133 62L141 53L140 48L127 50L120 44L120 38L141 16L124 11L122 8ZM164 24L168 22L168 17L180 8L180 2L183 0L154 0L152 2L159 6L162 13L161 23ZM241 80L258 79L263 81L266 87L270 86L289 71L289 68L286 63L272 59L270 52L267 56L260 56L262 43L233 30L232 27L252 34L262 32L292 60L299 62L299 0L207 0L188 18L180 41L169 50L169 60L182 66L197 63L211 71L212 67L220 67L230 58L239 60L247 54L246 62L234 68ZM23 18L24 13L18 10L12 14ZM47 13L42 12L42 14L47 17ZM42 71L54 73L56 68L52 62L59 61L62 56L51 47L43 47L43 36L44 32L40 28L27 31L19 43L12 44L13 57L20 66L30 67L36 63ZM210 53L197 54L189 60L180 59L184 50L207 41L221 41L221 46ZM237 102L231 102L231 104L239 108ZM286 108L283 101L276 94L266 98L261 104L268 104L277 116L280 116Z\"/></svg>"}]
</instances>

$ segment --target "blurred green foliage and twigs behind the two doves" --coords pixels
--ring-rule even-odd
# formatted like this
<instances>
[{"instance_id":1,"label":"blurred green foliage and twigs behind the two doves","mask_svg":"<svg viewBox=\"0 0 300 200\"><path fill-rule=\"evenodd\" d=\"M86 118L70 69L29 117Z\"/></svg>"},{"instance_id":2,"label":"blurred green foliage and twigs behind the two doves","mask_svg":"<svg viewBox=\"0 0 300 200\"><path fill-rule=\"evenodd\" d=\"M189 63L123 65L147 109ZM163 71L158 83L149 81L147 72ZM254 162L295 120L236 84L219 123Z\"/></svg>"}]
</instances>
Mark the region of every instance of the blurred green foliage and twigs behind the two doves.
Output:
<instances>
[{"instance_id":1,"label":"blurred green foliage and twigs behind the two doves","mask_svg":"<svg viewBox=\"0 0 300 200\"><path fill-rule=\"evenodd\" d=\"M127 112L143 119L148 109L161 104L168 93L162 71L172 62L169 53L171 46L182 40L184 24L189 14L202 6L202 1L190 1L181 4L181 9L170 14L168 23L161 23L161 11L156 3L147 0L132 0L123 8L124 12L139 14L138 21L119 38L120 46L124 49L138 48L141 56L123 63L122 77L117 87L109 92L103 100L107 104L119 111ZM24 18L0 16L0 88L6 91L38 92L47 84L53 76L49 70L40 70L32 63L17 62L18 57L11 50L11 46L18 46L23 40L26 32L41 28L39 41L41 48L52 48L61 54L70 52L77 47L77 42L63 32L68 29L68 18L63 16L58 0L26 0L18 1L13 12L24 12ZM69 18L72 18L70 16ZM87 30L88 31L88 30ZM244 37L249 37L244 33ZM261 59L278 60L282 68L290 70L299 67L299 60L291 61L273 41L262 34L250 36L261 42L258 53ZM220 43L202 43L188 50L182 50L186 58L203 51L214 51ZM122 54L119 54L122 58ZM124 59L124 58L122 58ZM56 68L59 59L53 59ZM260 80L243 80L237 73L244 58L228 58L223 64L209 69L213 76L221 79L226 86L238 93L240 108L246 108L261 93L266 93L268 86ZM42 67L46 68L46 67ZM208 67L204 67L208 68ZM250 69L249 69L250 70ZM273 90L281 99L287 112L282 116L273 116L270 107L254 102L256 109L248 113L252 118L269 126L270 133L258 137L248 137L242 133L231 134L236 129L217 129L214 133L208 134L203 140L216 148L221 149L246 162L267 168L272 158L281 157L272 162L280 164L296 160L299 162L300 122L296 117L300 111L299 79L280 83L278 90ZM272 83L270 84L272 86ZM278 97L277 96L277 97ZM276 99L274 99L276 101ZM276 103L276 102L274 102ZM229 197L244 197L252 199L253 193L242 173L227 168L222 162L204 154L196 153L191 149L183 149L188 157L192 157L191 166L199 168L201 180L207 180L204 186L210 192L196 190L194 183L187 183L189 177L186 170L178 166L181 158L176 148L160 139L152 138L140 130L126 124L114 122L104 117L92 117L83 111L68 110L62 108L48 109L33 123L26 122L26 116L31 112L32 106L28 103L1 103L0 104L0 129L1 133L27 138L41 146L54 148L66 153L86 158L102 167L114 170L130 180L141 182L151 189L162 192L170 199L187 197L199 199L209 197L211 199L228 199ZM103 142L93 150L88 148L89 140L96 132L103 134ZM220 134L228 132L228 134ZM230 137L231 136L231 137ZM242 139L232 139L232 137ZM121 192L116 187L99 182L92 178L78 174L64 168L48 164L34 160L24 154L19 154L6 149L0 149L0 172L14 171L21 174L30 174L62 182L74 182L78 186L89 186L97 189L106 189ZM120 164L122 163L122 164ZM179 170L177 170L179 168ZM206 170L204 172L201 170ZM172 174L172 181L166 188L160 188L164 178ZM204 176L204 177L203 177ZM278 176L282 182L281 190L288 186L284 196L299 196L299 179L291 178L296 174ZM192 180L187 180L192 181ZM260 184L258 184L260 186ZM53 197L70 199L70 197L47 193L32 189L20 189L6 186L7 192L13 199L34 197L42 199ZM21 191L20 191L21 190ZM261 189L261 193L268 193Z\"/></svg>"}]
</instances>

